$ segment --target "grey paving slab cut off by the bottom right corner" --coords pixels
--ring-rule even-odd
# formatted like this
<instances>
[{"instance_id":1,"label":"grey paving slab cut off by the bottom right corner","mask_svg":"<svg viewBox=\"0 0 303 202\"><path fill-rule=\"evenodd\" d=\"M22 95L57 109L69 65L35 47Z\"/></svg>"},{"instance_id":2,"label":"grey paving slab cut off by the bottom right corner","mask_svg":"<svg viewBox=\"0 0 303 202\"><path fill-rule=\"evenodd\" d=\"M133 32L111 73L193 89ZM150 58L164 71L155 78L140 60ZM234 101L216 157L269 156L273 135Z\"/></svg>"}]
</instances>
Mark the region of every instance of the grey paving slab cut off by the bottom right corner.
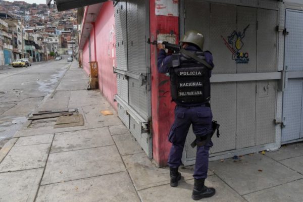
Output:
<instances>
[{"instance_id":1,"label":"grey paving slab cut off by the bottom right corner","mask_svg":"<svg viewBox=\"0 0 303 202\"><path fill-rule=\"evenodd\" d=\"M303 198L302 187L303 180L297 180L255 193L250 193L243 197L249 202L298 202L302 201Z\"/></svg>"}]
</instances>

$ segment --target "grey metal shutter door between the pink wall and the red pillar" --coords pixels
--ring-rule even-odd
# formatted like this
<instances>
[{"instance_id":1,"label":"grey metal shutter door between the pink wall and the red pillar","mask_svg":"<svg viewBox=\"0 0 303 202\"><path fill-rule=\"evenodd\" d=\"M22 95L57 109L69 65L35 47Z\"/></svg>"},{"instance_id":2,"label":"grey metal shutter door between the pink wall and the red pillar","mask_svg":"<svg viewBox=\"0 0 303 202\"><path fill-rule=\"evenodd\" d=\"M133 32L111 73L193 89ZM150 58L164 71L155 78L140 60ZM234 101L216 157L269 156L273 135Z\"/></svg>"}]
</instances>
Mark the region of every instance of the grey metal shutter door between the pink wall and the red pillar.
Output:
<instances>
[{"instance_id":1,"label":"grey metal shutter door between the pink wall and the red pillar","mask_svg":"<svg viewBox=\"0 0 303 202\"><path fill-rule=\"evenodd\" d=\"M148 1L119 2L115 9L118 113L151 158Z\"/></svg>"}]
</instances>

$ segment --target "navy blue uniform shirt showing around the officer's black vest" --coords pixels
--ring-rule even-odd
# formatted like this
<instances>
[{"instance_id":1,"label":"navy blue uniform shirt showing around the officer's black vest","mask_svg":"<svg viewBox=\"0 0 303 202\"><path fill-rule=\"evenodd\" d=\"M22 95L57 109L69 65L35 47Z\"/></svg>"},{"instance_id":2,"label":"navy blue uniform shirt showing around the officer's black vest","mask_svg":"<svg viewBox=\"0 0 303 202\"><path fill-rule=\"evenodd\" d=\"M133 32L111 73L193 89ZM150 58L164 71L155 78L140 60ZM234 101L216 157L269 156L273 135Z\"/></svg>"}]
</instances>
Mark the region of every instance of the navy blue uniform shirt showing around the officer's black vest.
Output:
<instances>
[{"instance_id":1,"label":"navy blue uniform shirt showing around the officer's black vest","mask_svg":"<svg viewBox=\"0 0 303 202\"><path fill-rule=\"evenodd\" d=\"M199 51L200 49L197 48L194 45L189 45L185 48L186 51L190 51L190 52L194 52L194 51ZM208 64L210 64L212 67L214 67L214 63L213 63L213 56L212 53L209 51L204 52L204 57L205 60ZM158 72L159 73L169 73L169 69L172 67L172 56L167 56L166 52L164 49L160 49L160 52L158 54ZM211 77L212 71L209 70L209 74ZM177 105L179 106L185 106L185 107L192 107L192 106L199 106L199 105L203 105L206 104L208 102L205 103L200 103L200 104L184 104L184 103L178 103L176 102Z\"/></svg>"}]
</instances>

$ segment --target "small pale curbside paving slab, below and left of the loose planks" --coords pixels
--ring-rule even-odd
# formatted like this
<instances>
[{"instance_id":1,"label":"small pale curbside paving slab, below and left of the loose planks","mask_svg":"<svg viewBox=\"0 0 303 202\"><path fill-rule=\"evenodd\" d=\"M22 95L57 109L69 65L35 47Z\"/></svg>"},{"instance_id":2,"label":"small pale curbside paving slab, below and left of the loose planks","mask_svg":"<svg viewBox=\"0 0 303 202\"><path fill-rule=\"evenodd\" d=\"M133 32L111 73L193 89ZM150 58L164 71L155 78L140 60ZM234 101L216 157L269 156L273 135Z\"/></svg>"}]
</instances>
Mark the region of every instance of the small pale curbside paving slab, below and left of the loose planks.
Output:
<instances>
[{"instance_id":1,"label":"small pale curbside paving slab, below and left of the loose planks","mask_svg":"<svg viewBox=\"0 0 303 202\"><path fill-rule=\"evenodd\" d=\"M35 135L29 137L20 137L16 142L15 146L52 143L53 137L54 137L54 133L45 134L45 135Z\"/></svg>"}]
</instances>

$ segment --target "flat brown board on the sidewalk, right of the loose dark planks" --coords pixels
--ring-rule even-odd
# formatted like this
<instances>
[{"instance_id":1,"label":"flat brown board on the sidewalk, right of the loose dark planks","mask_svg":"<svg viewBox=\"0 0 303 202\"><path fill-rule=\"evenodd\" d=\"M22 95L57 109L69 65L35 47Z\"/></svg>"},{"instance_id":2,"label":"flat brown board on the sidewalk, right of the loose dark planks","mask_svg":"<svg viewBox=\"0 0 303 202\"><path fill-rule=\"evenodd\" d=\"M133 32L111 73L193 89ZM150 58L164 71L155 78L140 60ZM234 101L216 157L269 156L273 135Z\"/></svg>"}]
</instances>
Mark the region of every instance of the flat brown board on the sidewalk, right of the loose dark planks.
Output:
<instances>
[{"instance_id":1,"label":"flat brown board on the sidewalk, right of the loose dark planks","mask_svg":"<svg viewBox=\"0 0 303 202\"><path fill-rule=\"evenodd\" d=\"M54 128L67 128L74 126L83 126L84 119L82 114L75 114L72 116L62 116L57 118Z\"/></svg>"}]
</instances>

